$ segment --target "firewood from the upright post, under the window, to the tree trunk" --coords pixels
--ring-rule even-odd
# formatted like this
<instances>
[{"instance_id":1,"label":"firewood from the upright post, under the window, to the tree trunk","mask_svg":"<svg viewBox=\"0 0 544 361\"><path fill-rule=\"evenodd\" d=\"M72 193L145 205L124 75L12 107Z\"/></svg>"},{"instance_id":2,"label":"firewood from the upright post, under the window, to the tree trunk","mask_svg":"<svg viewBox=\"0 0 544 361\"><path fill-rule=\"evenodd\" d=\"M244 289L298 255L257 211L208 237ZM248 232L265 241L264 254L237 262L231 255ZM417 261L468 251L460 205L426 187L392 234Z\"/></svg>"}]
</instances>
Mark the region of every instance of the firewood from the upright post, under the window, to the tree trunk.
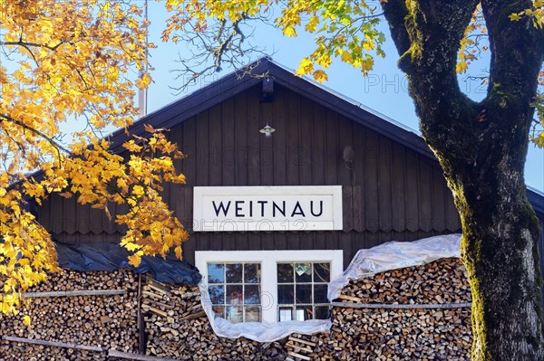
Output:
<instances>
[{"instance_id":1,"label":"firewood from the upright post, under the window, to the tree trunk","mask_svg":"<svg viewBox=\"0 0 544 361\"><path fill-rule=\"evenodd\" d=\"M196 288L148 281L143 297L148 355L179 360L468 360L470 355L471 290L457 259L352 281L331 310L329 335L294 334L267 344L217 337ZM410 308L400 309L405 305Z\"/></svg>"}]
</instances>

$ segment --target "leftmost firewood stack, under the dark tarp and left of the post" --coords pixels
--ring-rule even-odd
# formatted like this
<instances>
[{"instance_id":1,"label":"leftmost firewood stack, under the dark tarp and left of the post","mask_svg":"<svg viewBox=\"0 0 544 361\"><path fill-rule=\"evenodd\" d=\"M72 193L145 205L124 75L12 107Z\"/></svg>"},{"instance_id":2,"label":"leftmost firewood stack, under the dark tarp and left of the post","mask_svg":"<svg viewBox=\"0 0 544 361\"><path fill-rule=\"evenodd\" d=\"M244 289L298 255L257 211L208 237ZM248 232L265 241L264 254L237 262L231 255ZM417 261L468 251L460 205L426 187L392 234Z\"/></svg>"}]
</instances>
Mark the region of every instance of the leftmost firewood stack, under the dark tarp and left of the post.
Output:
<instances>
[{"instance_id":1,"label":"leftmost firewood stack, under the dark tarp and left of the post","mask_svg":"<svg viewBox=\"0 0 544 361\"><path fill-rule=\"evenodd\" d=\"M89 290L101 290L105 294L78 295L79 291ZM33 357L35 360L103 360L109 349L138 350L138 280L131 271L60 271L28 290L26 295L27 305L17 316L0 315L0 336L11 337L0 343L2 361ZM24 316L31 318L29 326L24 325ZM14 337L26 341L16 342ZM102 348L103 351L34 345L33 340Z\"/></svg>"}]
</instances>

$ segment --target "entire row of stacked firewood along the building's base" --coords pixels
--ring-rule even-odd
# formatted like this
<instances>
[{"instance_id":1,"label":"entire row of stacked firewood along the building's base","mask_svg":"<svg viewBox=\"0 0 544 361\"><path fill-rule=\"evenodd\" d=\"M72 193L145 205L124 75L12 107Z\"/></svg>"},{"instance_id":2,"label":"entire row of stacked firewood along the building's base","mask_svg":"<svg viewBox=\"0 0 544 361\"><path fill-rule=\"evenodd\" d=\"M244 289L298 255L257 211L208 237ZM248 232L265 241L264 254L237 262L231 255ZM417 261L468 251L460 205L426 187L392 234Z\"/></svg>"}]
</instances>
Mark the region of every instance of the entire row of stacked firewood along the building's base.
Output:
<instances>
[{"instance_id":1,"label":"entire row of stacked firewood along the building's base","mask_svg":"<svg viewBox=\"0 0 544 361\"><path fill-rule=\"evenodd\" d=\"M113 293L81 294L90 290ZM5 338L0 361L102 361L121 353L128 353L123 359L143 359L131 358L139 348L146 359L169 360L461 361L469 359L471 349L471 290L457 259L352 281L333 302L330 334L293 334L270 343L218 337L198 288L147 277L139 288L131 271L63 271L31 291L56 293L30 299L18 317L0 316L0 336ZM62 291L62 297L55 297ZM30 327L24 326L23 315L32 318Z\"/></svg>"}]
</instances>

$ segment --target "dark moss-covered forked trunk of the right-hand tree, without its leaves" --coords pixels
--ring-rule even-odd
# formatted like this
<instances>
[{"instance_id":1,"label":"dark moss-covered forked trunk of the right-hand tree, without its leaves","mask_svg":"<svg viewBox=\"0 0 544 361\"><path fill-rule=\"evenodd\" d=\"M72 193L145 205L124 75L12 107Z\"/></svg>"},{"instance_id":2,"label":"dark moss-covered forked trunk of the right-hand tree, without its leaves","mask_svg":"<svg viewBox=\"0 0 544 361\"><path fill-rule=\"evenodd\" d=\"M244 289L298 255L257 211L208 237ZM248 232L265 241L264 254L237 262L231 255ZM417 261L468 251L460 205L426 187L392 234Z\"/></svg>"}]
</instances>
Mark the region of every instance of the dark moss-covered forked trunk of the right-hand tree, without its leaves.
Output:
<instances>
[{"instance_id":1,"label":"dark moss-covered forked trunk of the right-hand tree, without its leaves","mask_svg":"<svg viewBox=\"0 0 544 361\"><path fill-rule=\"evenodd\" d=\"M439 159L461 216L461 255L473 294L472 360L542 360L539 223L523 169L544 32L509 15L531 1L482 1L490 35L490 85L476 103L455 66L479 1L383 3L423 138Z\"/></svg>"}]
</instances>

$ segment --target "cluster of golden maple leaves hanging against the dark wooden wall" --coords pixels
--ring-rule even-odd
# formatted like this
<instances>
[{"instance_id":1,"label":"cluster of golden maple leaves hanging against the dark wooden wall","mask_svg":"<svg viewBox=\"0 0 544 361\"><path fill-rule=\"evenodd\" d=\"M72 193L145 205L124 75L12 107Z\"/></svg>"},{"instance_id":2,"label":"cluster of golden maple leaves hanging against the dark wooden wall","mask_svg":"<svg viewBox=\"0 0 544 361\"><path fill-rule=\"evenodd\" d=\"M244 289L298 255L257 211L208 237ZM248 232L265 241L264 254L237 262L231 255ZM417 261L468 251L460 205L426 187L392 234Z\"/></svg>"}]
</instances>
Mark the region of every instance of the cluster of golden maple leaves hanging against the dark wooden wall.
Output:
<instances>
[{"instance_id":1,"label":"cluster of golden maple leaves hanging against the dark wooden wall","mask_svg":"<svg viewBox=\"0 0 544 361\"><path fill-rule=\"evenodd\" d=\"M146 129L151 132L149 138L137 137L123 144L128 151L125 157L112 154L102 139L91 148L74 150L64 167L70 179L69 192L78 195L80 203L104 209L106 214L109 203L128 207L115 222L127 226L121 245L133 252L130 262L134 266L142 255L165 256L188 238L160 196L163 182L185 183L185 176L173 164L173 159L183 155L162 132L150 126Z\"/></svg>"}]
</instances>

